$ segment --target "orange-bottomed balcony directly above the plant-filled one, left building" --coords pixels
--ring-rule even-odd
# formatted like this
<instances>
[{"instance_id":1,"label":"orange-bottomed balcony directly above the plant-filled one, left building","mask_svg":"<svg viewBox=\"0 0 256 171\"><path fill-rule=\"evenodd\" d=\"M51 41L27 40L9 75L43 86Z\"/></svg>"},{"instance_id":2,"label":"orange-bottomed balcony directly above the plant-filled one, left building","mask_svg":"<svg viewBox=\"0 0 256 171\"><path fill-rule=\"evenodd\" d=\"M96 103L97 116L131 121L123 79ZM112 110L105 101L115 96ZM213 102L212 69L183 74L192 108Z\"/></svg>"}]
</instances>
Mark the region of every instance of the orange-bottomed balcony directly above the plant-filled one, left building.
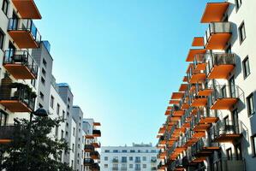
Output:
<instances>
[{"instance_id":1,"label":"orange-bottomed balcony directly above the plant-filled one, left building","mask_svg":"<svg viewBox=\"0 0 256 171\"><path fill-rule=\"evenodd\" d=\"M3 67L16 80L34 80L39 69L27 50L5 50Z\"/></svg>"}]
</instances>

